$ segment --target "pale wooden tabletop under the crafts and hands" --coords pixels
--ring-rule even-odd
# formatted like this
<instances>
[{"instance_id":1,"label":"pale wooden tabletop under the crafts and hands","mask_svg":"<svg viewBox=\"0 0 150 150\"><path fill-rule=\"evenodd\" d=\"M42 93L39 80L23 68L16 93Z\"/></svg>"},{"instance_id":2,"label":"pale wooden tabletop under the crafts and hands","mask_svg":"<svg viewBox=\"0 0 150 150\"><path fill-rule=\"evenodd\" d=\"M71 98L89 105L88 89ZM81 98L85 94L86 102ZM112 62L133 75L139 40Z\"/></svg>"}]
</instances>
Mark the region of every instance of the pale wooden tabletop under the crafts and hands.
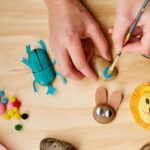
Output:
<instances>
[{"instance_id":1,"label":"pale wooden tabletop under the crafts and hands","mask_svg":"<svg viewBox=\"0 0 150 150\"><path fill-rule=\"evenodd\" d=\"M85 2L107 32L114 22L116 1ZM139 150L150 142L150 132L134 123L129 110L134 88L150 79L150 61L142 56L124 54L114 81L68 80L63 86L56 79L56 95L45 95L47 89L40 86L39 93L33 92L32 73L20 60L27 56L26 43L35 48L37 41L43 39L48 46L47 18L42 0L0 0L0 88L6 96L17 96L22 101L21 112L30 115L28 120L21 121L21 132L14 130L17 122L13 119L0 118L0 142L9 150L38 150L45 137L66 140L80 150ZM108 34L107 37L110 39ZM124 93L117 118L109 125L96 123L92 116L95 90L100 85L108 88L109 93Z\"/></svg>"}]
</instances>

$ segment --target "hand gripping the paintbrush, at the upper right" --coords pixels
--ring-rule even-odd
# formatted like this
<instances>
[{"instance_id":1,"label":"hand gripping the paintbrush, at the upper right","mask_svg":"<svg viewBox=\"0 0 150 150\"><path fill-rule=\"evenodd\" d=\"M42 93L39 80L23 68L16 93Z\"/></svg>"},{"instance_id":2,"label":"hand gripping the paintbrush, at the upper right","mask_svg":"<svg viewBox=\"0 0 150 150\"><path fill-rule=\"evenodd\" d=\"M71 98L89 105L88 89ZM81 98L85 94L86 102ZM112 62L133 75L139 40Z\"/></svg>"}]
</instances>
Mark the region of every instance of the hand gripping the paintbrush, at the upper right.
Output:
<instances>
[{"instance_id":1,"label":"hand gripping the paintbrush, at the upper right","mask_svg":"<svg viewBox=\"0 0 150 150\"><path fill-rule=\"evenodd\" d=\"M150 3L142 14L129 42L123 45L125 36L135 20L144 0L118 0L114 28L110 28L117 52L150 55ZM140 37L140 38L139 38Z\"/></svg>"}]
</instances>

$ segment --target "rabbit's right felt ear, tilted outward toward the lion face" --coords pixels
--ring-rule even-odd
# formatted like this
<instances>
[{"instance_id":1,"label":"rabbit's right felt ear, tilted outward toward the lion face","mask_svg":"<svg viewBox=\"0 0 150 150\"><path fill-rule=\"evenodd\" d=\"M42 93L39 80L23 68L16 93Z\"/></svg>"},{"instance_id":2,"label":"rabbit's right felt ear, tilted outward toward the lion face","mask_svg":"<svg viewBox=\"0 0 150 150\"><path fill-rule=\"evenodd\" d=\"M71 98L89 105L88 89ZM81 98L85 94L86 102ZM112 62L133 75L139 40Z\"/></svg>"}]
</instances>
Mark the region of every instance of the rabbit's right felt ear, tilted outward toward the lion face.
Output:
<instances>
[{"instance_id":1,"label":"rabbit's right felt ear, tilted outward toward the lion face","mask_svg":"<svg viewBox=\"0 0 150 150\"><path fill-rule=\"evenodd\" d=\"M119 108L121 104L122 99L123 99L122 93L119 91L115 91L114 93L112 93L112 95L108 99L108 104L117 111L117 109Z\"/></svg>"}]
</instances>

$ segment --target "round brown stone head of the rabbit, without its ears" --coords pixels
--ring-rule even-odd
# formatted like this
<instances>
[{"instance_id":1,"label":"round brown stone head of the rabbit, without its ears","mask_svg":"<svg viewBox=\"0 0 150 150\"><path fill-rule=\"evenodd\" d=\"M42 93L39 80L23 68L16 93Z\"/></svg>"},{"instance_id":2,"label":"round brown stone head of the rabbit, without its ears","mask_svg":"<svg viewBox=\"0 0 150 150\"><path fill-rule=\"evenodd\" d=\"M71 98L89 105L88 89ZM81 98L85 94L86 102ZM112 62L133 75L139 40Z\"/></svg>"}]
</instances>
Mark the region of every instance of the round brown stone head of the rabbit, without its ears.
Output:
<instances>
[{"instance_id":1,"label":"round brown stone head of the rabbit, without its ears","mask_svg":"<svg viewBox=\"0 0 150 150\"><path fill-rule=\"evenodd\" d=\"M93 116L97 122L106 124L114 120L116 112L110 105L100 104L94 108Z\"/></svg>"}]
</instances>

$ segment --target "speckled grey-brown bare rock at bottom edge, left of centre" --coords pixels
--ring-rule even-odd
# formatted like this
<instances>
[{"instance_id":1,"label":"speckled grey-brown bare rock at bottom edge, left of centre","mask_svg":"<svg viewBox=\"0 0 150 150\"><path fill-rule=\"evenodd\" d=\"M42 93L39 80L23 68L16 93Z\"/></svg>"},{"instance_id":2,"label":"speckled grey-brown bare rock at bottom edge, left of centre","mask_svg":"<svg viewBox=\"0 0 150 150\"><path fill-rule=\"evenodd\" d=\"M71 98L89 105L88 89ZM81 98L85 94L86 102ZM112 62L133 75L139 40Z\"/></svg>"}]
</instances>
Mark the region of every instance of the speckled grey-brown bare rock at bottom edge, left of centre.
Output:
<instances>
[{"instance_id":1,"label":"speckled grey-brown bare rock at bottom edge, left of centre","mask_svg":"<svg viewBox=\"0 0 150 150\"><path fill-rule=\"evenodd\" d=\"M40 143L40 150L76 150L75 147L65 141L59 141L53 138L43 139Z\"/></svg>"}]
</instances>

